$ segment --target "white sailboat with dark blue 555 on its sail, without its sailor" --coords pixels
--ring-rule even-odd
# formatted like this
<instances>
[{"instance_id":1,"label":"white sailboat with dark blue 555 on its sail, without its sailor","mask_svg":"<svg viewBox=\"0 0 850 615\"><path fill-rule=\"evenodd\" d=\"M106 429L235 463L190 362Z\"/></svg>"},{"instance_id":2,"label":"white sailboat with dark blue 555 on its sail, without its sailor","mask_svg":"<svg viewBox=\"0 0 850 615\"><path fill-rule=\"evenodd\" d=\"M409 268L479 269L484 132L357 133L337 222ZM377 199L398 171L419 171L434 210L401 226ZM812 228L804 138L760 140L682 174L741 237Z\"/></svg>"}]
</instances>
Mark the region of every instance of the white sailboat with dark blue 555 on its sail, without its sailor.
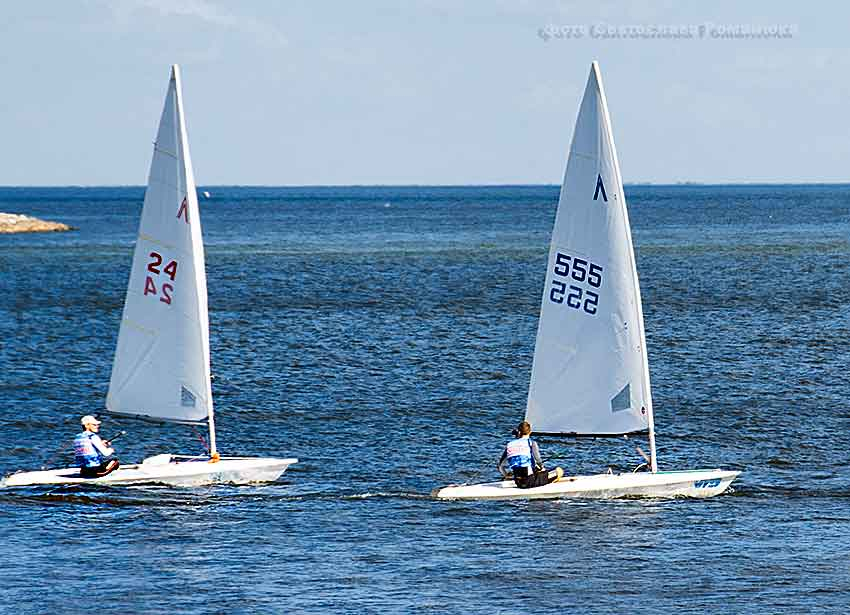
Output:
<instances>
[{"instance_id":1,"label":"white sailboat with dark blue 555 on its sail, without its sailor","mask_svg":"<svg viewBox=\"0 0 850 615\"><path fill-rule=\"evenodd\" d=\"M659 471L640 286L599 64L579 108L549 249L525 420L535 433L646 433L645 472L444 487L438 498L710 497L740 474Z\"/></svg>"}]
</instances>

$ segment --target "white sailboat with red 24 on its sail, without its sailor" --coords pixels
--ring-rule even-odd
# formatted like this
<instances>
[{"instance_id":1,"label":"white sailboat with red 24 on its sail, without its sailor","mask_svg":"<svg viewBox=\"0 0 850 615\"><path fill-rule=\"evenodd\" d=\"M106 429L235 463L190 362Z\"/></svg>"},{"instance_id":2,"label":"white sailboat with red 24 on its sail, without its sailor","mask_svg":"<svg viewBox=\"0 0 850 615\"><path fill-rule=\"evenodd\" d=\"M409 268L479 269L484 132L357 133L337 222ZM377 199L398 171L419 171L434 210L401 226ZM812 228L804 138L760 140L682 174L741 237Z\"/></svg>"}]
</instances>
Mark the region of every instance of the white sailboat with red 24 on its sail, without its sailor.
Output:
<instances>
[{"instance_id":1,"label":"white sailboat with red 24 on its sail, without its sailor","mask_svg":"<svg viewBox=\"0 0 850 615\"><path fill-rule=\"evenodd\" d=\"M206 423L209 452L155 455L99 478L82 478L79 468L19 472L5 486L241 484L274 481L298 461L223 457L216 447L204 244L177 65L154 144L106 409L160 422Z\"/></svg>"}]
</instances>

